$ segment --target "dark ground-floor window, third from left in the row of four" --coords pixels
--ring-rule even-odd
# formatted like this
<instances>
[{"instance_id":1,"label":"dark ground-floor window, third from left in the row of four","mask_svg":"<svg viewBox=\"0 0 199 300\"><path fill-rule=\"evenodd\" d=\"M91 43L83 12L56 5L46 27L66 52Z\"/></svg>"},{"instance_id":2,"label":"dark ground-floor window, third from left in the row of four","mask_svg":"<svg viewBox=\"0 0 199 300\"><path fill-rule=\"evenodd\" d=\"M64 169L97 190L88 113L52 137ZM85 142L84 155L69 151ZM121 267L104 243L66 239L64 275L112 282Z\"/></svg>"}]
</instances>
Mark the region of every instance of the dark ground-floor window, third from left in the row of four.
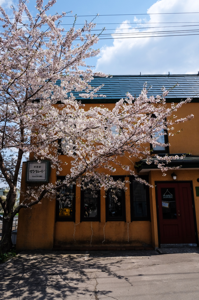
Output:
<instances>
[{"instance_id":1,"label":"dark ground-floor window, third from left in the row of four","mask_svg":"<svg viewBox=\"0 0 199 300\"><path fill-rule=\"evenodd\" d=\"M113 176L115 180L124 181L124 176ZM117 200L113 197L111 189L106 193L106 221L125 221L125 191L118 190Z\"/></svg>"}]
</instances>

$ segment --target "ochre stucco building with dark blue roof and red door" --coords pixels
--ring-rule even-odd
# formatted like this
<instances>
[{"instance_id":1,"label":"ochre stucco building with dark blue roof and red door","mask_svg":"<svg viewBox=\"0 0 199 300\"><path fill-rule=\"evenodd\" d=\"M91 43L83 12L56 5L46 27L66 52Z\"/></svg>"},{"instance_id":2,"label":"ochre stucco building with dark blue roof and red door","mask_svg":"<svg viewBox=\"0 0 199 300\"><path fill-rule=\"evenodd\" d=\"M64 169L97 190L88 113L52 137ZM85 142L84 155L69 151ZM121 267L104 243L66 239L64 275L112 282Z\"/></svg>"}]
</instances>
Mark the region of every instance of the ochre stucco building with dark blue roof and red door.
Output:
<instances>
[{"instance_id":1,"label":"ochre stucco building with dark blue roof and red door","mask_svg":"<svg viewBox=\"0 0 199 300\"><path fill-rule=\"evenodd\" d=\"M106 98L82 100L85 109L92 106L104 106L112 109L114 103L131 92L137 96L147 82L152 85L150 94L161 93L176 86L167 96L168 106L187 97L191 103L183 105L178 118L194 114L194 119L175 127L180 134L168 138L170 147L157 147L154 153L160 155L186 154L169 166L181 166L178 170L169 170L166 176L155 164L147 165L145 160L132 159L132 165L140 176L144 176L154 187L138 184L124 170L117 169L110 174L129 180L125 192L119 195L120 207L115 205L109 194L101 190L97 198L89 191L83 192L73 186L72 207L64 207L59 199L42 199L42 203L32 209L21 209L17 231L17 249L154 249L161 244L198 245L199 235L199 75L149 75L149 76L113 76L96 77L93 85L105 86L100 94ZM196 96L195 96L196 95ZM78 97L77 97L78 98ZM167 138L167 136L166 136ZM191 153L191 154L189 154ZM66 176L70 167L64 166L67 160L60 154L63 170L59 178ZM33 155L30 155L30 161ZM125 161L126 160L126 161ZM131 164L127 158L124 164ZM132 166L131 166L132 167ZM27 163L23 163L21 191L26 192ZM51 168L50 168L51 169ZM49 182L56 182L56 170L50 170ZM38 185L38 184L37 184ZM22 200L21 196L21 200Z\"/></svg>"}]
</instances>

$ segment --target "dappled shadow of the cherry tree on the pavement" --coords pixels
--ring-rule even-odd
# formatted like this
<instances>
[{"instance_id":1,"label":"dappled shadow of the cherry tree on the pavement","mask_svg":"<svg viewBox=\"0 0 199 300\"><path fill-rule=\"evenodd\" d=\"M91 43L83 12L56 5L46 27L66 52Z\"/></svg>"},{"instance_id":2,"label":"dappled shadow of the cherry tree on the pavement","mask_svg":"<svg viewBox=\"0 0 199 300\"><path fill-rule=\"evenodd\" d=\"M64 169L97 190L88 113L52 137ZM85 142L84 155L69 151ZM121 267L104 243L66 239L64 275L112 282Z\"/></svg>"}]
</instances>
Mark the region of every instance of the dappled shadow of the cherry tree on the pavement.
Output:
<instances>
[{"instance_id":1,"label":"dappled shadow of the cherry tree on the pavement","mask_svg":"<svg viewBox=\"0 0 199 300\"><path fill-rule=\"evenodd\" d=\"M0 265L0 294L2 299L10 300L97 300L98 295L111 292L97 289L98 276L107 280L114 277L131 285L127 277L111 268L122 263L120 256L143 255L146 251L23 251ZM107 264L109 258L117 259Z\"/></svg>"}]
</instances>

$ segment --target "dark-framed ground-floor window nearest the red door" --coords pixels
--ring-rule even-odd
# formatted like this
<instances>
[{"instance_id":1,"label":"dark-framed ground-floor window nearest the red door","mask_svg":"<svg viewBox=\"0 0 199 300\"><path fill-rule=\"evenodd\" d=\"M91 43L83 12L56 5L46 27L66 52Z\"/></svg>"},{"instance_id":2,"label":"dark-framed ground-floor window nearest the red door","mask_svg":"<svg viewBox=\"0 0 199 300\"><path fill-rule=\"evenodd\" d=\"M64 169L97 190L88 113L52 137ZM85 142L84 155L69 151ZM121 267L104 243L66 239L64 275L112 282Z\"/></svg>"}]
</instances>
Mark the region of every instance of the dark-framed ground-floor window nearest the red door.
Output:
<instances>
[{"instance_id":1,"label":"dark-framed ground-floor window nearest the red door","mask_svg":"<svg viewBox=\"0 0 199 300\"><path fill-rule=\"evenodd\" d=\"M148 176L140 178L149 181ZM131 221L150 220L149 187L130 177Z\"/></svg>"}]
</instances>

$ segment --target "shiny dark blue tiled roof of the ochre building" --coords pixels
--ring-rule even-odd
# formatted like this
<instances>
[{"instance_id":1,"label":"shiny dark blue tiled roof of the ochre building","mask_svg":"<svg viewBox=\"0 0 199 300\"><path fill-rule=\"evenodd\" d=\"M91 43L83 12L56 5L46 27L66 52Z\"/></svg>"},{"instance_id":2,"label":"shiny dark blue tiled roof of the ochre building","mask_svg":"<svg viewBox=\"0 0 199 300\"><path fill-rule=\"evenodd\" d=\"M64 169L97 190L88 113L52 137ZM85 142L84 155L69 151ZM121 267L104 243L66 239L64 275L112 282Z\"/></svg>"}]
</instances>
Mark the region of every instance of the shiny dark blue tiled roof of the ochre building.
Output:
<instances>
[{"instance_id":1,"label":"shiny dark blue tiled roof of the ochre building","mask_svg":"<svg viewBox=\"0 0 199 300\"><path fill-rule=\"evenodd\" d=\"M160 95L164 85L168 90L177 85L166 97L167 102L180 101L187 97L194 98L192 102L199 101L199 75L114 75L112 78L95 76L91 81L91 86L104 86L96 93L106 95L106 98L84 99L79 97L79 92L73 92L76 99L82 103L115 103L121 98L125 98L127 92L139 96L143 84L147 82L149 89L148 95ZM84 93L84 91L82 91Z\"/></svg>"}]
</instances>

